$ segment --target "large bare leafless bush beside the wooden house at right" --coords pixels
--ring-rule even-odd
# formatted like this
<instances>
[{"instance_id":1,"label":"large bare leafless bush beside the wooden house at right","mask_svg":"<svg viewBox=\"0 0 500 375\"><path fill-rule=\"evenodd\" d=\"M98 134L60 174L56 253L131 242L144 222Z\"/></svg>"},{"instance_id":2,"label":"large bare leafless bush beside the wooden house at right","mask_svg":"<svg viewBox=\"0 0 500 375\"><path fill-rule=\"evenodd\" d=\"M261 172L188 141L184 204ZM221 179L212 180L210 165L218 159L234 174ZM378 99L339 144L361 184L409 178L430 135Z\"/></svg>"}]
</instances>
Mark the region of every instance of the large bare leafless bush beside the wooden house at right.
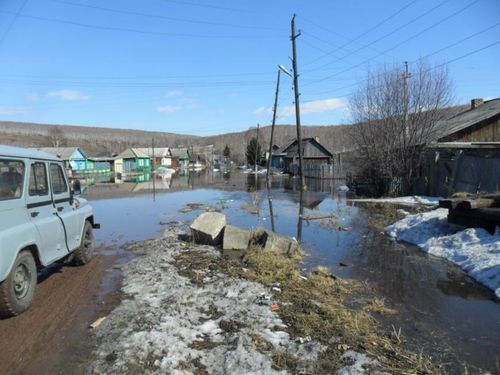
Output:
<instances>
[{"instance_id":1,"label":"large bare leafless bush beside the wooden house at right","mask_svg":"<svg viewBox=\"0 0 500 375\"><path fill-rule=\"evenodd\" d=\"M434 140L436 123L451 102L445 67L419 61L412 70L406 74L384 67L375 74L369 72L349 101L358 172L377 183L381 194L409 192L420 172L425 146Z\"/></svg>"}]
</instances>

